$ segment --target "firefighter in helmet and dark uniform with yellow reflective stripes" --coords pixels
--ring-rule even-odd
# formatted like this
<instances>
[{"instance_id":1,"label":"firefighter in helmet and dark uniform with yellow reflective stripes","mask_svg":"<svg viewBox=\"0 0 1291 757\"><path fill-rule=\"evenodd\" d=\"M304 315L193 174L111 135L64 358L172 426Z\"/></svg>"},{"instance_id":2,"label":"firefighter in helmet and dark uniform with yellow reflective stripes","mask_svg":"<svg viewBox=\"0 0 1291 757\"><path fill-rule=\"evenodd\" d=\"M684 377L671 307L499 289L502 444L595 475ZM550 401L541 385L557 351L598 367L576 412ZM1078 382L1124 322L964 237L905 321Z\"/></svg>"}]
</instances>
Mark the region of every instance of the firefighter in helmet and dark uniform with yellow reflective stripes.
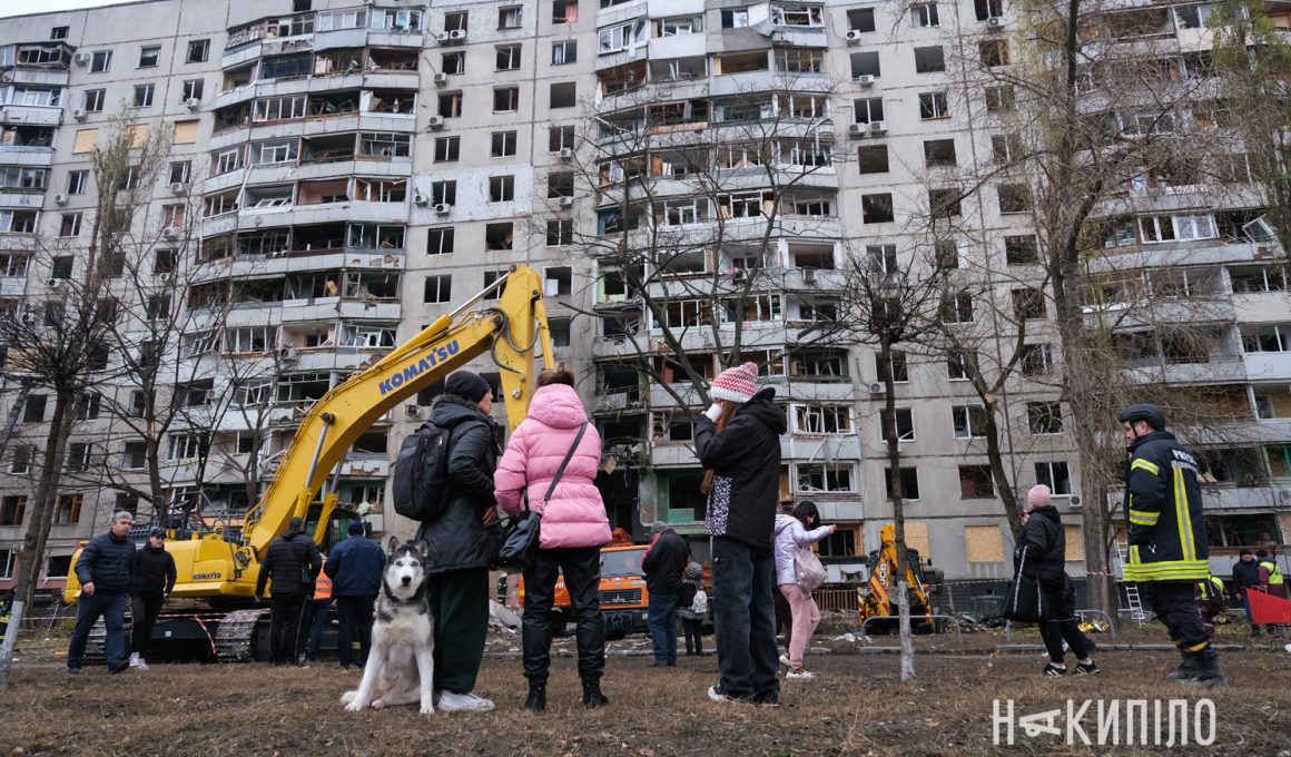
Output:
<instances>
[{"instance_id":1,"label":"firefighter in helmet and dark uniform with yellow reflective stripes","mask_svg":"<svg viewBox=\"0 0 1291 757\"><path fill-rule=\"evenodd\" d=\"M1224 686L1219 655L1193 601L1194 585L1210 580L1197 459L1166 430L1166 413L1154 404L1130 406L1121 413L1121 425L1130 447L1126 580L1139 584L1179 647L1183 663L1168 677Z\"/></svg>"}]
</instances>

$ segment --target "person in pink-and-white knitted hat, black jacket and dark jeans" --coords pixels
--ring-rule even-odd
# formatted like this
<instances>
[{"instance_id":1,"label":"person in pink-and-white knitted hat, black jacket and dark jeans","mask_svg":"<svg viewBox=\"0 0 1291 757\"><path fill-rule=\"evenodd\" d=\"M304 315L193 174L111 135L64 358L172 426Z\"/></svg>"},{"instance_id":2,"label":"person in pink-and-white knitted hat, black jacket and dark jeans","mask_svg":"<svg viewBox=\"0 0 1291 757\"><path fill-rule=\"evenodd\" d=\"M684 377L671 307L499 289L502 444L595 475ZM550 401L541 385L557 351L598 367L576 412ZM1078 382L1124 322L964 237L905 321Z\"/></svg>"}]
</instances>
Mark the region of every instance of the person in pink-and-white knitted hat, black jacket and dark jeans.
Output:
<instances>
[{"instance_id":1,"label":"person in pink-and-white knitted hat, black jacket and dark jeans","mask_svg":"<svg viewBox=\"0 0 1291 757\"><path fill-rule=\"evenodd\" d=\"M758 390L758 366L744 363L713 380L715 400L695 430L695 450L713 472L705 526L713 536L713 621L720 679L714 701L780 703L773 534L780 503L780 435L785 412L776 390Z\"/></svg>"}]
</instances>

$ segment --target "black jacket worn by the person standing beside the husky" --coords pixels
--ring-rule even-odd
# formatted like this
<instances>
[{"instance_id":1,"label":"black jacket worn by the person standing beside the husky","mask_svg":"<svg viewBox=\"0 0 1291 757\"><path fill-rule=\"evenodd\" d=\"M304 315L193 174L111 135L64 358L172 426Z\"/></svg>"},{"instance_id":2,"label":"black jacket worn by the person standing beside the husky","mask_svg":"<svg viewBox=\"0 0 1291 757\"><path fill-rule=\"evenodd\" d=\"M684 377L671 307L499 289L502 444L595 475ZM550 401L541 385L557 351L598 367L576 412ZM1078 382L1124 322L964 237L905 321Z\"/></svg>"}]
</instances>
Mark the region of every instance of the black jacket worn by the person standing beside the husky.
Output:
<instances>
[{"instance_id":1,"label":"black jacket worn by the person standing beside the husky","mask_svg":"<svg viewBox=\"0 0 1291 757\"><path fill-rule=\"evenodd\" d=\"M476 403L456 394L442 394L430 420L451 431L451 446L447 506L439 518L422 523L417 531L417 539L425 539L430 548L427 572L488 567L497 550L497 530L484 527L484 512L496 504L496 426Z\"/></svg>"}]
</instances>

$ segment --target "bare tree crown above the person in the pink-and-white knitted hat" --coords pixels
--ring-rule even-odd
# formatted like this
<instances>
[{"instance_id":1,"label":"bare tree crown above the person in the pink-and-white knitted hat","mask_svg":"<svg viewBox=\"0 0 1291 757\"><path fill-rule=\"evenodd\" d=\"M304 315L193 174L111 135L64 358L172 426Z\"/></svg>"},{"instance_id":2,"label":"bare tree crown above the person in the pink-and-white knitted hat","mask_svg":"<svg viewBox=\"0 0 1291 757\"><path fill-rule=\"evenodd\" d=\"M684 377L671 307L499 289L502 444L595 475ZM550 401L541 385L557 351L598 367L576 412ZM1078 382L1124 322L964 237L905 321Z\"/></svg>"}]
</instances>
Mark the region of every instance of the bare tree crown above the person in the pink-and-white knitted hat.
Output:
<instances>
[{"instance_id":1,"label":"bare tree crown above the person in the pink-and-white knitted hat","mask_svg":"<svg viewBox=\"0 0 1291 757\"><path fill-rule=\"evenodd\" d=\"M565 242L639 302L608 316L607 331L626 345L622 362L689 412L707 403L714 358L784 364L793 349L784 333L754 326L778 319L786 287L803 287L777 240L829 243L843 158L821 83L786 75L773 90L679 101L671 88L682 81L646 87L639 75L612 84L612 112L585 119L573 138L586 149L553 174L547 194L559 203L576 186L591 189L596 226L571 229ZM820 267L833 265L829 256Z\"/></svg>"}]
</instances>

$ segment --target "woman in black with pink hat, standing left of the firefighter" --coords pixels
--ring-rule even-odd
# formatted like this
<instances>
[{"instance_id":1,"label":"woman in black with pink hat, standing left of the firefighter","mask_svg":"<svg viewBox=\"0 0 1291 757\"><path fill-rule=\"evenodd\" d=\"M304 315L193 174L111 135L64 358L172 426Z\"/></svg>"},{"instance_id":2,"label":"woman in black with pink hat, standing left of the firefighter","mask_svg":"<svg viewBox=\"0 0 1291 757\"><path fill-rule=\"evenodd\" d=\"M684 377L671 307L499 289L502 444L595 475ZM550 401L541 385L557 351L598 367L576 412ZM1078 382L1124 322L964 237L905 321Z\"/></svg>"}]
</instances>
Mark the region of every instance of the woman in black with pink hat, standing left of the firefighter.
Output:
<instances>
[{"instance_id":1,"label":"woman in black with pink hat, standing left of the firefighter","mask_svg":"<svg viewBox=\"0 0 1291 757\"><path fill-rule=\"evenodd\" d=\"M1075 590L1066 575L1066 535L1062 519L1052 505L1052 496L1050 487L1043 483L1026 492L1022 539L1016 555L1022 566L1022 575L1039 581L1048 606L1046 617L1041 620L1041 638L1050 654L1044 674L1066 673L1062 663L1064 641L1075 654L1075 674L1097 673L1099 665L1090 658L1090 642L1075 624Z\"/></svg>"}]
</instances>

